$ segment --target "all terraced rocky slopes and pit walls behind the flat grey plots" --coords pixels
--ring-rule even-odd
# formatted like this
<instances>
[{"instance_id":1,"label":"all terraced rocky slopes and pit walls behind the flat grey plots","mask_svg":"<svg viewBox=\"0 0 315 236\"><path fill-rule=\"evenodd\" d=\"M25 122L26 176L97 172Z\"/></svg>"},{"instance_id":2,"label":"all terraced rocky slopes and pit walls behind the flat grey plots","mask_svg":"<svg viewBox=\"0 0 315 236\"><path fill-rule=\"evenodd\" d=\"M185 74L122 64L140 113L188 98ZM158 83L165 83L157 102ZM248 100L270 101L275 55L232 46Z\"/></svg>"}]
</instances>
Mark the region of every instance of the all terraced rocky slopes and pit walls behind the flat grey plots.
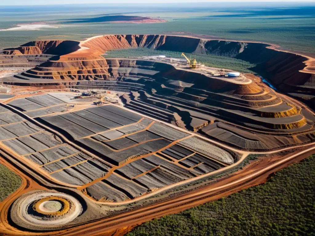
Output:
<instances>
[{"instance_id":1,"label":"all terraced rocky slopes and pit walls behind the flat grey plots","mask_svg":"<svg viewBox=\"0 0 315 236\"><path fill-rule=\"evenodd\" d=\"M55 56L3 82L61 83L79 89L125 92L121 99L132 110L188 130L199 130L203 135L241 149L268 150L311 142L315 138L314 116L301 104L279 96L261 82L233 82L165 63L102 56L109 50L135 47L224 55L249 61L256 64L251 70L280 91L308 104L313 101L314 74L310 58L280 52L262 43L165 35L106 35L82 42L46 40L7 48L2 57L10 55L11 58L3 61L5 65L9 62L14 66L20 57ZM233 131L231 124L237 125L237 131Z\"/></svg>"}]
</instances>

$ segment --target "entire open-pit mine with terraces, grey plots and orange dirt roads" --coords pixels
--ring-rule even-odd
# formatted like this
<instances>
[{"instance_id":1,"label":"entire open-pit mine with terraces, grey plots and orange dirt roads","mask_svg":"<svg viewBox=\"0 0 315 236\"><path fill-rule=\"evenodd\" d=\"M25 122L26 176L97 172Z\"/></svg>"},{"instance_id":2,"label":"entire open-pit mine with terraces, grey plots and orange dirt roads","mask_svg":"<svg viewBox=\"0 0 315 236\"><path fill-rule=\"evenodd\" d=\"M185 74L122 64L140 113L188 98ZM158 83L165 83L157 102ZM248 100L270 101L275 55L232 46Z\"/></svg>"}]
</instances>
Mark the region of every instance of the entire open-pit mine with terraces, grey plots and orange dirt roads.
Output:
<instances>
[{"instance_id":1,"label":"entire open-pit mine with terraces, grey plots and orange dirt roads","mask_svg":"<svg viewBox=\"0 0 315 236\"><path fill-rule=\"evenodd\" d=\"M274 88L253 74L104 55L138 47L242 59ZM3 86L36 91L0 94L1 158L23 180L0 205L5 235L123 235L261 183L315 149L314 59L272 45L165 35L43 40L4 49L0 68L19 68ZM111 91L117 103L71 90ZM217 177L251 155L260 158Z\"/></svg>"}]
</instances>

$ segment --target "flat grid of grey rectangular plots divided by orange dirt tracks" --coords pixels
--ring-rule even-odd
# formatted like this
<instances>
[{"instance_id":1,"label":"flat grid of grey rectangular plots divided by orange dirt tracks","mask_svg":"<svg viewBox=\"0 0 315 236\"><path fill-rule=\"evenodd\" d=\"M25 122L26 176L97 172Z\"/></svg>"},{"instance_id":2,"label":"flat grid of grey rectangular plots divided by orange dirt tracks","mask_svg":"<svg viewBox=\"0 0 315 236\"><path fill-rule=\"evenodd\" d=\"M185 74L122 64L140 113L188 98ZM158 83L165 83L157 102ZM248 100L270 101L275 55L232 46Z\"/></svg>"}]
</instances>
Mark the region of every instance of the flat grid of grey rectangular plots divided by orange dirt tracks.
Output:
<instances>
[{"instance_id":1,"label":"flat grid of grey rectangular plots divided by orange dirt tracks","mask_svg":"<svg viewBox=\"0 0 315 236\"><path fill-rule=\"evenodd\" d=\"M61 103L47 94L9 102L1 107L0 140L26 165L56 183L85 189L96 200L133 199L238 159L185 131L112 105L35 120L21 116Z\"/></svg>"}]
</instances>

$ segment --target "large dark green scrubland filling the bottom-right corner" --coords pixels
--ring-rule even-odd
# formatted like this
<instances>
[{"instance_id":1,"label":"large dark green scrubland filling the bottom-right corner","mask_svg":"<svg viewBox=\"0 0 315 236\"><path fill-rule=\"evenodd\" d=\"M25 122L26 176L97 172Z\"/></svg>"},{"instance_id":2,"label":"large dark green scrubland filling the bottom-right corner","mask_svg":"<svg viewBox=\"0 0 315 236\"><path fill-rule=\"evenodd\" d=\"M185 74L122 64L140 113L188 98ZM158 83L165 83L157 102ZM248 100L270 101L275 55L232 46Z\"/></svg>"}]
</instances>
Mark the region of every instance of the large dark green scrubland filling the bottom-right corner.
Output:
<instances>
[{"instance_id":1,"label":"large dark green scrubland filling the bottom-right corner","mask_svg":"<svg viewBox=\"0 0 315 236\"><path fill-rule=\"evenodd\" d=\"M267 183L135 228L127 236L314 235L315 155Z\"/></svg>"}]
</instances>

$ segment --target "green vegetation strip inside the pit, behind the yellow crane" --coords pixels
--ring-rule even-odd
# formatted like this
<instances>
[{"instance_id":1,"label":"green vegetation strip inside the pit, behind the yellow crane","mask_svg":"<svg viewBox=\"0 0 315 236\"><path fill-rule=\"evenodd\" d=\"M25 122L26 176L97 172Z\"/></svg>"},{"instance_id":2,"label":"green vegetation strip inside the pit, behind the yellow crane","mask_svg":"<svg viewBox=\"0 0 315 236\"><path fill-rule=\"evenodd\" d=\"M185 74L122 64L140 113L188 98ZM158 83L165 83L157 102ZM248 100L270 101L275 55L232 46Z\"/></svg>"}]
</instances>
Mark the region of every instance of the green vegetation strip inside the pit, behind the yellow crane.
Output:
<instances>
[{"instance_id":1,"label":"green vegetation strip inside the pit, behind the yellow crane","mask_svg":"<svg viewBox=\"0 0 315 236\"><path fill-rule=\"evenodd\" d=\"M203 55L194 53L185 53L188 58L195 58L198 62L210 67L217 67L223 69L237 70L244 73L254 73L249 70L249 68L254 67L255 64L251 64L247 61L240 59L217 56L217 55ZM155 55L165 55L167 57L182 58L181 52L174 51L163 51L163 50L152 50L149 48L128 48L112 50L106 53L106 58L129 58L129 57L140 57L140 56L155 56Z\"/></svg>"}]
</instances>

